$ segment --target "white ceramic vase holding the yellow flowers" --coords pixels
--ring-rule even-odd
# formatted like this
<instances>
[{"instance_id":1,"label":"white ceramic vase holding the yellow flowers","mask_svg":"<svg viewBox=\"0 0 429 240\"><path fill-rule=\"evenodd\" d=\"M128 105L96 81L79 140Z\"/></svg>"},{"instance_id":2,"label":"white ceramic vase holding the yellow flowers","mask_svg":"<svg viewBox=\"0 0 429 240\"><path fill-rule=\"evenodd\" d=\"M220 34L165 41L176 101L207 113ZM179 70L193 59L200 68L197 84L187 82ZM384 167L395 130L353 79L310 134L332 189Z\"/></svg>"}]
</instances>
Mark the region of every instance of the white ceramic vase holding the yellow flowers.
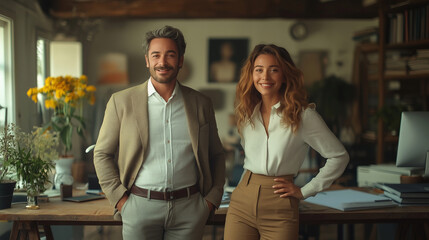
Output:
<instances>
[{"instance_id":1,"label":"white ceramic vase holding the yellow flowers","mask_svg":"<svg viewBox=\"0 0 429 240\"><path fill-rule=\"evenodd\" d=\"M60 190L61 184L72 185L72 165L74 157L60 157L55 161L55 176L54 176L54 187Z\"/></svg>"}]
</instances>

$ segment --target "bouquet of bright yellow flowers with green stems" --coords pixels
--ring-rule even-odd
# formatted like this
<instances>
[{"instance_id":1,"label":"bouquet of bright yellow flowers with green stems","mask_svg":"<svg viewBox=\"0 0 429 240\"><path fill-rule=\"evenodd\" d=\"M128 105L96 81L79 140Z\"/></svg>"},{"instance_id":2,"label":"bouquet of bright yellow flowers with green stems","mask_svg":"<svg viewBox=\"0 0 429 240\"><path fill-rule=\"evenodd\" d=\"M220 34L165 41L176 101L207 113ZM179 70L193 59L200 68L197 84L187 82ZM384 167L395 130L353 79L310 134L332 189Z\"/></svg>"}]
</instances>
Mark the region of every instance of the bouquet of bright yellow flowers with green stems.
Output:
<instances>
[{"instance_id":1,"label":"bouquet of bright yellow flowers with green stems","mask_svg":"<svg viewBox=\"0 0 429 240\"><path fill-rule=\"evenodd\" d=\"M59 132L61 142L64 145L64 155L72 149L73 129L83 137L85 121L82 117L84 102L91 105L95 102L96 88L88 85L85 75L80 77L59 76L47 77L45 85L41 88L30 88L27 95L38 102L38 94L44 96L45 108L53 109L51 121L45 128L52 128Z\"/></svg>"}]
</instances>

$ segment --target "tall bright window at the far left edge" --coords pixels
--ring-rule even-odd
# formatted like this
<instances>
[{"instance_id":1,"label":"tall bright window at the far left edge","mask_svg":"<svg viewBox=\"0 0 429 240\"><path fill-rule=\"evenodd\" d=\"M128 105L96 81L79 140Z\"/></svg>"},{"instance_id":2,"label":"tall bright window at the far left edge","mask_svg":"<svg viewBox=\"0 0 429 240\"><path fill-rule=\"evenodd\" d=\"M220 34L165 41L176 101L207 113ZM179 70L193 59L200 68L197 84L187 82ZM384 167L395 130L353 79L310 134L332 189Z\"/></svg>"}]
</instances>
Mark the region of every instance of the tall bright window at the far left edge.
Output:
<instances>
[{"instance_id":1,"label":"tall bright window at the far left edge","mask_svg":"<svg viewBox=\"0 0 429 240\"><path fill-rule=\"evenodd\" d=\"M12 66L12 20L0 15L0 125L15 122ZM6 122L5 122L6 121Z\"/></svg>"}]
</instances>

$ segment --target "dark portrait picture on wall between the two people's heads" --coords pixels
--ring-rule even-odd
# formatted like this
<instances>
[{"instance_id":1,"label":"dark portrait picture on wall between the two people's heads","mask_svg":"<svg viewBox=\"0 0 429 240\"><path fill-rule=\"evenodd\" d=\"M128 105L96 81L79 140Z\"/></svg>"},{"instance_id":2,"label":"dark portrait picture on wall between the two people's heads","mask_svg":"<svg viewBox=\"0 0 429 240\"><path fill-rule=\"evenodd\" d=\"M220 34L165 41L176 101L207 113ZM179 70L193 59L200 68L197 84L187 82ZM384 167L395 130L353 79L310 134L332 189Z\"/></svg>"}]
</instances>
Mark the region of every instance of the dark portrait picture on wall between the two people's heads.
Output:
<instances>
[{"instance_id":1,"label":"dark portrait picture on wall between the two people's heads","mask_svg":"<svg viewBox=\"0 0 429 240\"><path fill-rule=\"evenodd\" d=\"M249 39L209 39L208 81L211 83L236 83L240 69L247 58Z\"/></svg>"}]
</instances>

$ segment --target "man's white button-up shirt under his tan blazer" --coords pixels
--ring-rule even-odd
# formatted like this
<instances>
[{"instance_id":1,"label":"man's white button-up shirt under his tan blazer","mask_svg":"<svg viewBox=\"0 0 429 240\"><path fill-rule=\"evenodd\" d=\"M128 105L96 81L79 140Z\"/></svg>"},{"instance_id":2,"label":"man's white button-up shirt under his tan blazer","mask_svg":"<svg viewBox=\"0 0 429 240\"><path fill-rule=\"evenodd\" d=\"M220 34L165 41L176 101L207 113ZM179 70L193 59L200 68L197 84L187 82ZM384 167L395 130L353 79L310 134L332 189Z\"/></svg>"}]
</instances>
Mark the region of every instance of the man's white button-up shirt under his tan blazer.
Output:
<instances>
[{"instance_id":1,"label":"man's white button-up shirt under his tan blazer","mask_svg":"<svg viewBox=\"0 0 429 240\"><path fill-rule=\"evenodd\" d=\"M197 182L182 92L176 83L166 102L148 82L149 145L135 185L154 191L176 190Z\"/></svg>"}]
</instances>

